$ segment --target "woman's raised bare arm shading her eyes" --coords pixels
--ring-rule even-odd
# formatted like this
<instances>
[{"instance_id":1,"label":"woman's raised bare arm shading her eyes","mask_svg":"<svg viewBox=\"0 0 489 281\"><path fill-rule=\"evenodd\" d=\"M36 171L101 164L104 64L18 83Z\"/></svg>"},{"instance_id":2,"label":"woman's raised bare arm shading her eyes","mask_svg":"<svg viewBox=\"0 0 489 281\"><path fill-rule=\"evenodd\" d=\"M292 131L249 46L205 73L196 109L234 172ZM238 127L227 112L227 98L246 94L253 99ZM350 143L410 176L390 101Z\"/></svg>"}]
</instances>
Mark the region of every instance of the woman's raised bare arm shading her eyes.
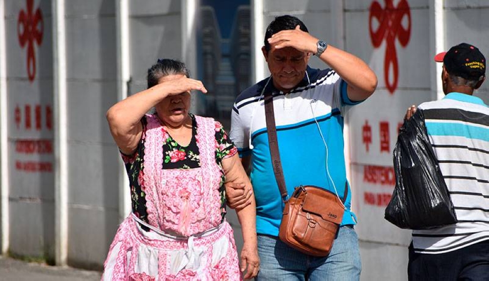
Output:
<instances>
[{"instance_id":1,"label":"woman's raised bare arm shading her eyes","mask_svg":"<svg viewBox=\"0 0 489 281\"><path fill-rule=\"evenodd\" d=\"M133 154L141 139L143 128L140 121L144 114L167 96L191 90L207 92L202 82L182 75L178 79L160 83L113 105L107 111L107 121L119 149L125 154Z\"/></svg>"}]
</instances>

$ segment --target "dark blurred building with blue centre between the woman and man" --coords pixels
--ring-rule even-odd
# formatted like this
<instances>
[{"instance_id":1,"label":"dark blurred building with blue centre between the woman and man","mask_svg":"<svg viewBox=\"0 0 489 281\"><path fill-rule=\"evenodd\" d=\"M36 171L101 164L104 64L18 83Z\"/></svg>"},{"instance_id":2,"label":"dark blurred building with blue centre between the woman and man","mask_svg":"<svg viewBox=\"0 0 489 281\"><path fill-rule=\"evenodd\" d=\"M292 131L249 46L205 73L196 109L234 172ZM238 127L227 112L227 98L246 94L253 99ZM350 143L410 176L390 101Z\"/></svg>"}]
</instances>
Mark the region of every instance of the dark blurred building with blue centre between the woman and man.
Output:
<instances>
[{"instance_id":1,"label":"dark blurred building with blue centre between the woman and man","mask_svg":"<svg viewBox=\"0 0 489 281\"><path fill-rule=\"evenodd\" d=\"M209 0L200 7L200 79L208 90L202 112L225 128L236 96L251 84L250 8L245 2Z\"/></svg>"}]
</instances>

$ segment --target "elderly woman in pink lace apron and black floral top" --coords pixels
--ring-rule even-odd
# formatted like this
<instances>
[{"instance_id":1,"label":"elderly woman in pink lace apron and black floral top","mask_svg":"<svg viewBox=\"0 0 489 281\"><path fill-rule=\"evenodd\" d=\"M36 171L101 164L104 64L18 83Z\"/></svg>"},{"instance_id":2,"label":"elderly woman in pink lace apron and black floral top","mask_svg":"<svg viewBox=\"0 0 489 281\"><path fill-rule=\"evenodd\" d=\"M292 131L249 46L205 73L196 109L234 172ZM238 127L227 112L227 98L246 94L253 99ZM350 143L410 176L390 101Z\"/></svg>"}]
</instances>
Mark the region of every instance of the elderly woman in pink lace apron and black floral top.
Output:
<instances>
[{"instance_id":1,"label":"elderly woman in pink lace apron and black floral top","mask_svg":"<svg viewBox=\"0 0 489 281\"><path fill-rule=\"evenodd\" d=\"M258 273L254 197L237 210L241 272L224 219L224 183L244 183L245 190L251 183L222 125L189 113L192 90L207 92L183 63L158 60L148 69L148 89L107 112L129 175L133 212L111 244L104 281L234 281L244 270L244 278ZM145 114L153 107L154 114Z\"/></svg>"}]
</instances>

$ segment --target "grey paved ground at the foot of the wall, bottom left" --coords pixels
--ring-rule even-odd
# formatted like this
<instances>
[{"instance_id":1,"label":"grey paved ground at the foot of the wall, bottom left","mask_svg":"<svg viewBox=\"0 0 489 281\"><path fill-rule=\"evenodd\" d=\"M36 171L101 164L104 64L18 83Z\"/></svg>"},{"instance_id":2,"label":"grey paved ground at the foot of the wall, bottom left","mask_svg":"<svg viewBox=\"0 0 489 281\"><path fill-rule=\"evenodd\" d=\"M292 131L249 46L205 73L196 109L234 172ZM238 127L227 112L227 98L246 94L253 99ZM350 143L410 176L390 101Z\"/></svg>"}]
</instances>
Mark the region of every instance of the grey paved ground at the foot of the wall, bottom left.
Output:
<instances>
[{"instance_id":1,"label":"grey paved ground at the foot of the wall, bottom left","mask_svg":"<svg viewBox=\"0 0 489 281\"><path fill-rule=\"evenodd\" d=\"M27 263L0 256L1 281L100 281L101 273Z\"/></svg>"}]
</instances>

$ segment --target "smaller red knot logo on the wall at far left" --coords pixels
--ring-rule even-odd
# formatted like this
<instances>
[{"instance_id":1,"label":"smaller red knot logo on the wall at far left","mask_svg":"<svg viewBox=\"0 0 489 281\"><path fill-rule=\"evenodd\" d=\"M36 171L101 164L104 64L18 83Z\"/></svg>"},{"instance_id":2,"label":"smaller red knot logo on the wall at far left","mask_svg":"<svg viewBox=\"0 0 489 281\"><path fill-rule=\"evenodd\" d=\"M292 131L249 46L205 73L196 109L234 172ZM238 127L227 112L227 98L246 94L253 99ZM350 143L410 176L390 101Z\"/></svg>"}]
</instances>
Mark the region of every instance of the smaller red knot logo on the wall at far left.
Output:
<instances>
[{"instance_id":1,"label":"smaller red knot logo on the wall at far left","mask_svg":"<svg viewBox=\"0 0 489 281\"><path fill-rule=\"evenodd\" d=\"M34 52L34 42L38 45L43 43L44 22L43 14L39 8L33 13L34 0L27 1L27 12L21 10L17 20L17 34L19 43L23 48L27 44L27 75L29 81L34 81L36 77L36 54Z\"/></svg>"}]
</instances>

